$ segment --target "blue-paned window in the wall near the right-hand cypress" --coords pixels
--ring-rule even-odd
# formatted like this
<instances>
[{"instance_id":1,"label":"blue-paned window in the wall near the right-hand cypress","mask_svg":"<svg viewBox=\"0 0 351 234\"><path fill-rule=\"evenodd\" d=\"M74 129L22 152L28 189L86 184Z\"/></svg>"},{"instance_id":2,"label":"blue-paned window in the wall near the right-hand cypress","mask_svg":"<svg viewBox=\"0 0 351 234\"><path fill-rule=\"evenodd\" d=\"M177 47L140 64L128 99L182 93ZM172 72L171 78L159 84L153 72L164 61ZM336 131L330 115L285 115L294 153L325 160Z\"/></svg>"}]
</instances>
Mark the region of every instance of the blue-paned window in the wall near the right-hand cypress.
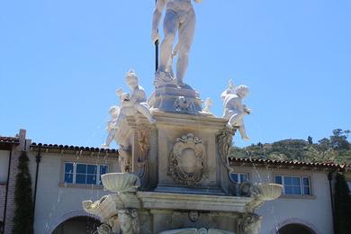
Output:
<instances>
[{"instance_id":1,"label":"blue-paned window in the wall near the right-hand cypress","mask_svg":"<svg viewBox=\"0 0 351 234\"><path fill-rule=\"evenodd\" d=\"M310 177L277 175L275 183L284 186L284 194L311 195Z\"/></svg>"}]
</instances>

